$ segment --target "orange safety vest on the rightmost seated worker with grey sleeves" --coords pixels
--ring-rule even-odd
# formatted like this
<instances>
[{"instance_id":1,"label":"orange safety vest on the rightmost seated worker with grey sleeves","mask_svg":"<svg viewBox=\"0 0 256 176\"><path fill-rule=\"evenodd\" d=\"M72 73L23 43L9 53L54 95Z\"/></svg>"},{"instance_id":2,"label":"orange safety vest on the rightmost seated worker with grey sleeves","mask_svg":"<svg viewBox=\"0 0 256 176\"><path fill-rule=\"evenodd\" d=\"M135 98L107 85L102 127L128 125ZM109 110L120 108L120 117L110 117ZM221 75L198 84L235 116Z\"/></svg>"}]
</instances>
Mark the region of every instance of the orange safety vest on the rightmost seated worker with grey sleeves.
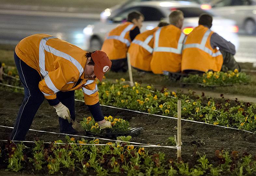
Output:
<instances>
[{"instance_id":1,"label":"orange safety vest on the rightmost seated worker with grey sleeves","mask_svg":"<svg viewBox=\"0 0 256 176\"><path fill-rule=\"evenodd\" d=\"M208 27L199 25L184 40L182 51L182 71L221 71L223 57L218 49L210 44L214 32Z\"/></svg>"}]
</instances>

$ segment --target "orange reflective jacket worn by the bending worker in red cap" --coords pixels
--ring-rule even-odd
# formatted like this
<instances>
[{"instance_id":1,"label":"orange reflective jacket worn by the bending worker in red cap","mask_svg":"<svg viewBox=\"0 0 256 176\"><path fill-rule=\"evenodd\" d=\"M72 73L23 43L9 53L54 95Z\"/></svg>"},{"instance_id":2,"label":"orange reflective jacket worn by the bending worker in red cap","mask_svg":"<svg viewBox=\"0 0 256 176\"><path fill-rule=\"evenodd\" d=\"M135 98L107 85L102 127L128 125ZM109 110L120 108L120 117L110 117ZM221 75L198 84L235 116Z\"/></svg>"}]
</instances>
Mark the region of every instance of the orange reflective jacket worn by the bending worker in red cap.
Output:
<instances>
[{"instance_id":1,"label":"orange reflective jacket worn by the bending worker in red cap","mask_svg":"<svg viewBox=\"0 0 256 176\"><path fill-rule=\"evenodd\" d=\"M22 39L15 52L42 77L38 86L46 99L55 99L59 91L82 88L87 105L99 102L97 78L84 78L86 51L48 34L34 34Z\"/></svg>"}]
</instances>

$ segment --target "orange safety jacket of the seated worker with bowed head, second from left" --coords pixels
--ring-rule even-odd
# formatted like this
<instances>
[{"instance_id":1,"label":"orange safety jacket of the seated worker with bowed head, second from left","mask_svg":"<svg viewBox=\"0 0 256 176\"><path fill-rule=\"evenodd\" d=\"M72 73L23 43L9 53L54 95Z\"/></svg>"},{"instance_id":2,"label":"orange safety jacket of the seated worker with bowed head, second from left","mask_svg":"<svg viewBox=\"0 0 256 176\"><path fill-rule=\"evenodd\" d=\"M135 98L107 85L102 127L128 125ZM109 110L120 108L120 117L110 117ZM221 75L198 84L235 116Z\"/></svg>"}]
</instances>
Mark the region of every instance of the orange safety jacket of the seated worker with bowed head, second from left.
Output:
<instances>
[{"instance_id":1,"label":"orange safety jacket of the seated worker with bowed head, second from left","mask_svg":"<svg viewBox=\"0 0 256 176\"><path fill-rule=\"evenodd\" d=\"M128 49L131 65L143 71L151 71L153 53L153 34L159 27L138 34Z\"/></svg>"}]
</instances>

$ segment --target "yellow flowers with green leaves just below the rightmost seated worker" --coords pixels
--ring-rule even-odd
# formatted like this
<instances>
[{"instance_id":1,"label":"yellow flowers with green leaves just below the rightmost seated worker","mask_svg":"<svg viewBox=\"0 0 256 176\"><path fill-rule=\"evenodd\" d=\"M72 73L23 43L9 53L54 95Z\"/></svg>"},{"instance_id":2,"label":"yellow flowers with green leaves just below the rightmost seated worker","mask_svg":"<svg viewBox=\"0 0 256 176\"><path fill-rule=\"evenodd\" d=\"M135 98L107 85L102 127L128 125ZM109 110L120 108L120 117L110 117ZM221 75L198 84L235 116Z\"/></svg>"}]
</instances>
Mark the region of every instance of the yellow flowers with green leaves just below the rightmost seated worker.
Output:
<instances>
[{"instance_id":1,"label":"yellow flowers with green leaves just below the rightmost seated worker","mask_svg":"<svg viewBox=\"0 0 256 176\"><path fill-rule=\"evenodd\" d=\"M244 72L238 72L237 69L228 72L212 72L208 71L202 76L195 74L182 78L184 84L199 84L206 86L225 86L233 84L245 84L249 83L250 78Z\"/></svg>"}]
</instances>

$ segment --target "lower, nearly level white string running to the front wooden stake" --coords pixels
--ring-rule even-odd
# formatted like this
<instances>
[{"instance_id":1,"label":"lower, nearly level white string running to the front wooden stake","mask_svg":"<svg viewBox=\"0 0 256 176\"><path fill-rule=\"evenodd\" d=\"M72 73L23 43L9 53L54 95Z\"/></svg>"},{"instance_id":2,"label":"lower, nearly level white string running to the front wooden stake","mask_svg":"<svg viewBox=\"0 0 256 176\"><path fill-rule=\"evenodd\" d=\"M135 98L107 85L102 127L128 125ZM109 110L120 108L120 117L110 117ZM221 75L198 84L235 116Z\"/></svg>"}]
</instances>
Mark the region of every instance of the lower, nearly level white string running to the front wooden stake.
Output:
<instances>
[{"instance_id":1,"label":"lower, nearly level white string running to the front wooden stake","mask_svg":"<svg viewBox=\"0 0 256 176\"><path fill-rule=\"evenodd\" d=\"M0 141L8 141L8 140L1 140ZM35 143L34 141L20 141L20 140L12 140L12 142L27 142L27 143ZM122 141L125 142L125 141ZM43 142L44 144L50 144L51 142ZM77 143L59 143L59 142L53 142L54 144L70 144L70 145L91 145L91 146L118 146L117 144L77 144ZM130 142L128 142L130 143ZM122 145L119 145L122 147ZM130 145L125 145L130 146ZM171 148L171 149L177 149L176 147L172 146L142 146L142 145L133 145L134 147L165 147L165 148Z\"/></svg>"}]
</instances>

